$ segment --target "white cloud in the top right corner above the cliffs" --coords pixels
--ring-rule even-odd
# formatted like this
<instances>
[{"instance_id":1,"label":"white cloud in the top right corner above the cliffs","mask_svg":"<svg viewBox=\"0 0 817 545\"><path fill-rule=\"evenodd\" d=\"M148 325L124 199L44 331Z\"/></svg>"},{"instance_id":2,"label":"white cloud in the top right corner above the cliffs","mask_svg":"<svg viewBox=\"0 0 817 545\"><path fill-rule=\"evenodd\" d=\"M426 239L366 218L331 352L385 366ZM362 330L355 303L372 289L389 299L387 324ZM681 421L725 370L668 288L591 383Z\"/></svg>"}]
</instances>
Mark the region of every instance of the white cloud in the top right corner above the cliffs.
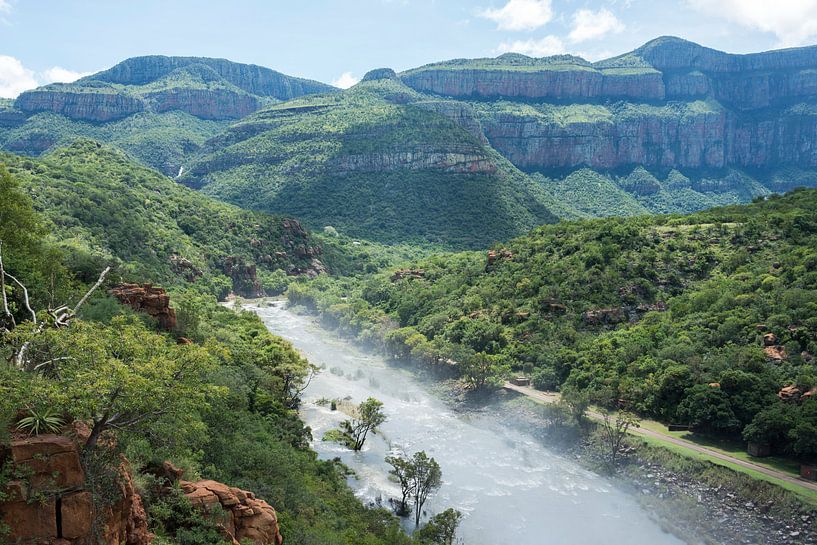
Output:
<instances>
[{"instance_id":1,"label":"white cloud in the top right corner above the cliffs","mask_svg":"<svg viewBox=\"0 0 817 545\"><path fill-rule=\"evenodd\" d=\"M694 9L746 28L770 32L781 47L817 39L817 0L687 0Z\"/></svg>"}]
</instances>

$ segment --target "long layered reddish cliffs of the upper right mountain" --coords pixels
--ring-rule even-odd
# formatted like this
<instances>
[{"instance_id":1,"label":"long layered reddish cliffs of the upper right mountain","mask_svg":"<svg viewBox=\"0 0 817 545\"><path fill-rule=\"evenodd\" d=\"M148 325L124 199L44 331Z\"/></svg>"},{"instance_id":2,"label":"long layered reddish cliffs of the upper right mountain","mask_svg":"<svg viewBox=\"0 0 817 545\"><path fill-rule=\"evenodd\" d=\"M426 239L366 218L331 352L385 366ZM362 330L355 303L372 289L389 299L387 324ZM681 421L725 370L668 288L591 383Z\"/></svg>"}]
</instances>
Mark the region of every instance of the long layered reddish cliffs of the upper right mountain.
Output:
<instances>
[{"instance_id":1,"label":"long layered reddish cliffs of the upper right mountain","mask_svg":"<svg viewBox=\"0 0 817 545\"><path fill-rule=\"evenodd\" d=\"M817 166L817 47L730 55L660 38L595 64L504 55L400 77L471 101L476 121L448 117L523 169Z\"/></svg>"}]
</instances>

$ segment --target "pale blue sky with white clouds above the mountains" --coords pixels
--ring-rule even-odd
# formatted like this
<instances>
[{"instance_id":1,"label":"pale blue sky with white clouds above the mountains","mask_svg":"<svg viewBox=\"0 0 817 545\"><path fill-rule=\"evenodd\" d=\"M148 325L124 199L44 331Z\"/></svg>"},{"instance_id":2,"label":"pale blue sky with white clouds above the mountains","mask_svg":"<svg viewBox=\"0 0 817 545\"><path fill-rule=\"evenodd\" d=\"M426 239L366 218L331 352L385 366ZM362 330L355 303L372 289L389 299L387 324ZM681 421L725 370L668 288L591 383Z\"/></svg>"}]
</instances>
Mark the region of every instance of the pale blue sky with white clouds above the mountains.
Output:
<instances>
[{"instance_id":1,"label":"pale blue sky with white clouds above the mountains","mask_svg":"<svg viewBox=\"0 0 817 545\"><path fill-rule=\"evenodd\" d=\"M658 36L732 53L817 43L817 0L0 0L0 97L128 57L222 57L348 87L508 51L599 60Z\"/></svg>"}]
</instances>

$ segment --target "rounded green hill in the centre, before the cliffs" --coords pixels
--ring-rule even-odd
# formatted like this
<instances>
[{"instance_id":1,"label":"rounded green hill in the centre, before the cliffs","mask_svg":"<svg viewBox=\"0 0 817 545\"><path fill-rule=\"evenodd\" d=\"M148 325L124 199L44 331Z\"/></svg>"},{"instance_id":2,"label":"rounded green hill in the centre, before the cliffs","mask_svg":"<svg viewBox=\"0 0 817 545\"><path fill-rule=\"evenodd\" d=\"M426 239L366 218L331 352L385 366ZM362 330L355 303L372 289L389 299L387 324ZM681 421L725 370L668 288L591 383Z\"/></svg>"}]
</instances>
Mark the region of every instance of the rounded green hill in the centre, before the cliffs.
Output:
<instances>
[{"instance_id":1,"label":"rounded green hill in the centre, before the cliffs","mask_svg":"<svg viewBox=\"0 0 817 545\"><path fill-rule=\"evenodd\" d=\"M381 79L271 106L212 140L181 180L380 242L479 246L555 219L537 184L455 122L412 104L421 99Z\"/></svg>"}]
</instances>

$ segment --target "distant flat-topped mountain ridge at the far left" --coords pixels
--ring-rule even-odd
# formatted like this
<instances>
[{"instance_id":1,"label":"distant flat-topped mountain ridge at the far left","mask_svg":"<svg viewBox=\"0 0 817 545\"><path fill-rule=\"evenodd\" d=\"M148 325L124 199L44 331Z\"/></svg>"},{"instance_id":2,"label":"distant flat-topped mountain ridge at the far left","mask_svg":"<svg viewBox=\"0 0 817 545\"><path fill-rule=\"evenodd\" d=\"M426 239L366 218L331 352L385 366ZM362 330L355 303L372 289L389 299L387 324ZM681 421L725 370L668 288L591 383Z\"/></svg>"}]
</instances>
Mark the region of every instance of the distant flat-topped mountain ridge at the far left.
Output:
<instances>
[{"instance_id":1,"label":"distant flat-topped mountain ridge at the far left","mask_svg":"<svg viewBox=\"0 0 817 545\"><path fill-rule=\"evenodd\" d=\"M0 103L0 149L39 155L77 137L115 144L175 175L185 157L259 108L336 89L269 68L205 57L134 57L73 83Z\"/></svg>"}]
</instances>

